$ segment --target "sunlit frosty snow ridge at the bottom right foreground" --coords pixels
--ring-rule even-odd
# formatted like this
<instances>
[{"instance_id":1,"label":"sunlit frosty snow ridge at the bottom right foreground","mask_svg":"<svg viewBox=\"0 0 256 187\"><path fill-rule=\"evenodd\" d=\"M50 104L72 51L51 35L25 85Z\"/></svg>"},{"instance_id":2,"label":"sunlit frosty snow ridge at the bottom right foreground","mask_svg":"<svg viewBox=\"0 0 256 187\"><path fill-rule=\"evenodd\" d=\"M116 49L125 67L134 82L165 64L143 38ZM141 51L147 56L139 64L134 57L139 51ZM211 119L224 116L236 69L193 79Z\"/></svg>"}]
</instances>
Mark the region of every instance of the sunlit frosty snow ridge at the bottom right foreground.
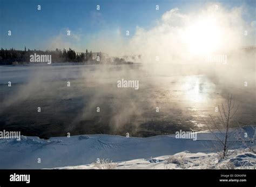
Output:
<instances>
[{"instance_id":1,"label":"sunlit frosty snow ridge at the bottom right foreground","mask_svg":"<svg viewBox=\"0 0 256 187\"><path fill-rule=\"evenodd\" d=\"M256 148L256 147L254 147ZM248 149L232 150L228 158L222 160L216 153L190 153L183 151L175 155L137 159L125 162L106 162L62 167L56 169L256 169L256 154Z\"/></svg>"}]
</instances>

